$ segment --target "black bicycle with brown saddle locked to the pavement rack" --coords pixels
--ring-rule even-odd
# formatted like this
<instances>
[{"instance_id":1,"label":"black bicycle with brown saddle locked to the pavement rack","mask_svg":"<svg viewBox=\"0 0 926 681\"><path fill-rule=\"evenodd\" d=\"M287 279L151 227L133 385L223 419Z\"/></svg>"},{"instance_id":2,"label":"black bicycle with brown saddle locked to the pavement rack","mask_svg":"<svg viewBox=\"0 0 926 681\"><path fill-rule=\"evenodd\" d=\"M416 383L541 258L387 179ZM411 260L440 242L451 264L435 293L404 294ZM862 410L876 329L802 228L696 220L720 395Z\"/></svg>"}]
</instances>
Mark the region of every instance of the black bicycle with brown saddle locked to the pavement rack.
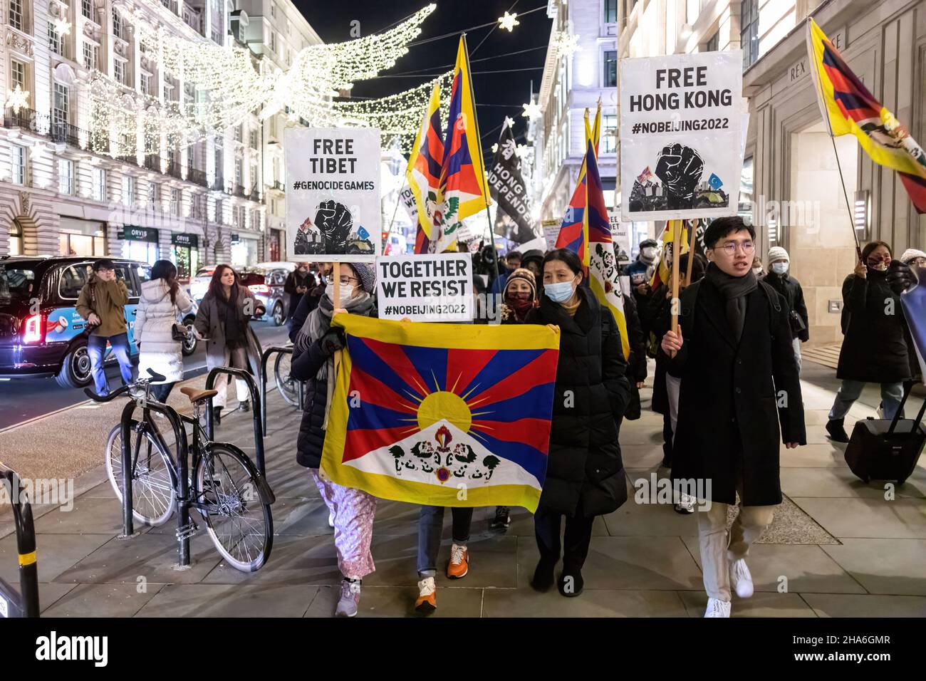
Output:
<instances>
[{"instance_id":1,"label":"black bicycle with brown saddle locked to the pavement rack","mask_svg":"<svg viewBox=\"0 0 926 681\"><path fill-rule=\"evenodd\" d=\"M236 570L256 572L269 559L273 546L272 490L240 448L213 442L206 435L202 408L218 391L181 388L181 393L193 404L191 418L151 397L151 384L165 378L150 369L148 374L150 378L139 378L106 397L84 390L97 402L127 395L142 408L141 420L131 418L132 410L128 408L122 412L122 420L128 420L132 436L132 517L156 526L166 523L180 508L177 538L182 542L199 529L188 515L190 509L195 509L206 521L206 531L222 557ZM169 442L157 427L153 411L167 417L173 435L187 438L186 426L192 426L192 468L186 466L189 440L180 443L174 437ZM175 426L179 426L180 432ZM120 503L123 502L122 427L120 421L106 440L106 476ZM173 450L177 451L176 459ZM193 475L188 477L188 471ZM188 523L183 522L187 519Z\"/></svg>"}]
</instances>

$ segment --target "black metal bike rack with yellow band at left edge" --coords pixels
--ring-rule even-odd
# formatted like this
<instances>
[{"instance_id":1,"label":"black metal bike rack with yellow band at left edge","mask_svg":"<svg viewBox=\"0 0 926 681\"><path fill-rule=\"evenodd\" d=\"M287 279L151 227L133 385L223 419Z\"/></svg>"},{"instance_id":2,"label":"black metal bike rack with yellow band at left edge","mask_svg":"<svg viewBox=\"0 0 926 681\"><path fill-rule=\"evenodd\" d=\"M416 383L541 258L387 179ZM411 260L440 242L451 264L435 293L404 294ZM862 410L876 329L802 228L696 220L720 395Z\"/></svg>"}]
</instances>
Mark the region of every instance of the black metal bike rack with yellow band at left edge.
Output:
<instances>
[{"instance_id":1,"label":"black metal bike rack with yellow band at left edge","mask_svg":"<svg viewBox=\"0 0 926 681\"><path fill-rule=\"evenodd\" d=\"M22 494L19 475L0 464L0 485L6 486L13 507L16 545L19 551L19 593L0 579L0 599L7 617L39 616L39 570L35 559L35 526L32 507Z\"/></svg>"}]
</instances>

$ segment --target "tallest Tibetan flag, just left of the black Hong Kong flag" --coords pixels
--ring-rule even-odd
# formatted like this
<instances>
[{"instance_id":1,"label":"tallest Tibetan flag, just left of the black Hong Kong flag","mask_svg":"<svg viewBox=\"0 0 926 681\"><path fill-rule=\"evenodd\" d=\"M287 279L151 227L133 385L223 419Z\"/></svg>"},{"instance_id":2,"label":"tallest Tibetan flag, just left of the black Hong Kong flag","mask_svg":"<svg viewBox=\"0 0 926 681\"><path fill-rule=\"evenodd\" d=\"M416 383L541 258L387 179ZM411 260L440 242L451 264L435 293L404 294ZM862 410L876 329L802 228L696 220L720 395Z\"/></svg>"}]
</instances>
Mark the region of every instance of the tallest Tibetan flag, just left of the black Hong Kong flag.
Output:
<instances>
[{"instance_id":1,"label":"tallest Tibetan flag, just left of the black Hong Kong flag","mask_svg":"<svg viewBox=\"0 0 926 681\"><path fill-rule=\"evenodd\" d=\"M441 168L444 216L434 248L436 253L456 251L460 222L488 205L475 101L469 80L466 36L461 35L444 138L444 164Z\"/></svg>"}]
</instances>

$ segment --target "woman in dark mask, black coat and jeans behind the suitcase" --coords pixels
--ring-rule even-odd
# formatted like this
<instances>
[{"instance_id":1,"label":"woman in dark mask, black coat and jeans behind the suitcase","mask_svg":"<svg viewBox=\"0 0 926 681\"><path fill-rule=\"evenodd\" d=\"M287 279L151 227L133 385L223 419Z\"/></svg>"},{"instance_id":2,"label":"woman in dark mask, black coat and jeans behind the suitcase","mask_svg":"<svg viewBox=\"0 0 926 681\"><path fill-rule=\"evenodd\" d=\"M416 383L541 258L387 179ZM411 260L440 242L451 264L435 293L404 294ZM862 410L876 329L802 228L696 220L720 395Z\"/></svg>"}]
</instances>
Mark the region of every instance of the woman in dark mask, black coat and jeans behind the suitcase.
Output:
<instances>
[{"instance_id":1,"label":"woman in dark mask, black coat and jeans behind the suitcase","mask_svg":"<svg viewBox=\"0 0 926 681\"><path fill-rule=\"evenodd\" d=\"M856 270L843 283L843 347L836 378L843 385L830 410L827 433L834 442L848 442L845 414L867 383L881 385L884 418L893 419L910 377L900 297L887 283L891 247L873 241L862 249Z\"/></svg>"}]
</instances>

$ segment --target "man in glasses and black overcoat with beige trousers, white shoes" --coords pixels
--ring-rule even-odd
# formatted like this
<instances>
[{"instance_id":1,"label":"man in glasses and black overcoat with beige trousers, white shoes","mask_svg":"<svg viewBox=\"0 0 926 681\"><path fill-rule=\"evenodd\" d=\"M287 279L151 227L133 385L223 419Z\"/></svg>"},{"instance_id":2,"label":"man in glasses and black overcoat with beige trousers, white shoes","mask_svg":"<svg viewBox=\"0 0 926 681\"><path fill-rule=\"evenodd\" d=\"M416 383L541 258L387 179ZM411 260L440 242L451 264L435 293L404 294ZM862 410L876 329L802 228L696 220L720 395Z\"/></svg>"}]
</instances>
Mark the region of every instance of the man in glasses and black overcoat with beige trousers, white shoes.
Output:
<instances>
[{"instance_id":1,"label":"man in glasses and black overcoat with beige trousers, white shoes","mask_svg":"<svg viewBox=\"0 0 926 681\"><path fill-rule=\"evenodd\" d=\"M755 239L739 217L707 227L707 275L680 296L679 331L661 344L677 353L669 373L682 380L673 485L703 502L706 617L730 616L731 589L752 596L745 556L782 503L779 422L786 448L807 444L787 307L752 272ZM737 492L742 506L728 538L727 507Z\"/></svg>"}]
</instances>

